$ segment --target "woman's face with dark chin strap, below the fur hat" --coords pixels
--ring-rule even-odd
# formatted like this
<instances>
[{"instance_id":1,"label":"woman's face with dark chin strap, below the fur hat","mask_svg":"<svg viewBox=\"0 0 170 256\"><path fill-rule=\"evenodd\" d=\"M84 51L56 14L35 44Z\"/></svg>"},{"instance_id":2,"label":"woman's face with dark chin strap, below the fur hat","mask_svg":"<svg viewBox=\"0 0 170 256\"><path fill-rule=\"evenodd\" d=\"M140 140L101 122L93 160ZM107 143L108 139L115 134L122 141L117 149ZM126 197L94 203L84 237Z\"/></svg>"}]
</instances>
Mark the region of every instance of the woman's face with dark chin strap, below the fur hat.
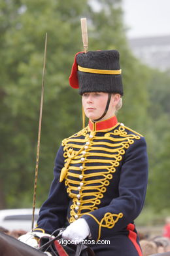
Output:
<instances>
[{"instance_id":1,"label":"woman's face with dark chin strap, below the fur hat","mask_svg":"<svg viewBox=\"0 0 170 256\"><path fill-rule=\"evenodd\" d=\"M109 109L107 114L101 119L108 119L114 116L115 106L118 103L120 95L115 94L111 96ZM105 111L107 105L108 93L93 92L84 93L82 95L82 106L86 117L95 120L101 117Z\"/></svg>"}]
</instances>

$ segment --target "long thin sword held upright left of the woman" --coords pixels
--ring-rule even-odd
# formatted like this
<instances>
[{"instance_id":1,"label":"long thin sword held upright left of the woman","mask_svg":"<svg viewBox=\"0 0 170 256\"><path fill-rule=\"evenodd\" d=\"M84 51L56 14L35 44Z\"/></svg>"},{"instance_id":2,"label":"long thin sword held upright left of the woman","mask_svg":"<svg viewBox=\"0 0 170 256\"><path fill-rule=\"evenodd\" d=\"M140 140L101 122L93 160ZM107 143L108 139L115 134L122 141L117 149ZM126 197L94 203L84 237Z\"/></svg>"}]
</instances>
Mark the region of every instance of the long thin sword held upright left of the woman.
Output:
<instances>
[{"instance_id":1,"label":"long thin sword held upright left of the woman","mask_svg":"<svg viewBox=\"0 0 170 256\"><path fill-rule=\"evenodd\" d=\"M39 113L39 133L37 141L37 158L35 165L35 180L34 180L34 190L33 190L33 214L32 214L32 225L31 229L33 231L34 217L35 217L35 202L36 202L36 192L37 192L37 178L38 178L38 169L39 169L39 148L40 148L40 139L41 139L41 122L42 122L42 105L44 98L44 74L46 67L46 45L47 45L47 33L45 37L45 46L44 46L44 64L42 70L42 87L41 87L41 103L40 103L40 113Z\"/></svg>"}]
</instances>

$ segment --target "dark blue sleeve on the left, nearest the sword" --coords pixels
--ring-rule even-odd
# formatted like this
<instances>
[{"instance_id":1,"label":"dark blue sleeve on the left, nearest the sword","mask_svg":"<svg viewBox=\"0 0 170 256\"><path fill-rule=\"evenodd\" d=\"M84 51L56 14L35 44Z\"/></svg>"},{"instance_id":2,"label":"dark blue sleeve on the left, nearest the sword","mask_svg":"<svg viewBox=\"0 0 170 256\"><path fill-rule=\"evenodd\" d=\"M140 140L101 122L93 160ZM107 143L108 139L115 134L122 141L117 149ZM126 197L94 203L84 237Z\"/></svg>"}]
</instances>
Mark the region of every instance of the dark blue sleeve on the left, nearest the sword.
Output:
<instances>
[{"instance_id":1,"label":"dark blue sleeve on the left, nearest the sword","mask_svg":"<svg viewBox=\"0 0 170 256\"><path fill-rule=\"evenodd\" d=\"M48 199L42 204L35 230L51 234L66 222L68 196L64 182L59 182L61 169L64 165L63 147L60 146L54 166L54 180L50 186ZM46 174L48 175L48 173Z\"/></svg>"}]
</instances>

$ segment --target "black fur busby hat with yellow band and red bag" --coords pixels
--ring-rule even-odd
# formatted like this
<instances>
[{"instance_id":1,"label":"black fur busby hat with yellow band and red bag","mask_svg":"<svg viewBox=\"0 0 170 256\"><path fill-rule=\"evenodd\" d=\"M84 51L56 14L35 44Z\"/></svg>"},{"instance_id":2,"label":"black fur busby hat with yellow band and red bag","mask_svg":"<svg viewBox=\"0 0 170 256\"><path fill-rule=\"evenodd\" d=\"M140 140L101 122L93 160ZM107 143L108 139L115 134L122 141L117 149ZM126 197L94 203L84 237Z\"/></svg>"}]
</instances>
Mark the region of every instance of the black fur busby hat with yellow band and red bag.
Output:
<instances>
[{"instance_id":1,"label":"black fur busby hat with yellow band and red bag","mask_svg":"<svg viewBox=\"0 0 170 256\"><path fill-rule=\"evenodd\" d=\"M80 95L95 91L123 95L118 51L76 53L69 83Z\"/></svg>"}]
</instances>

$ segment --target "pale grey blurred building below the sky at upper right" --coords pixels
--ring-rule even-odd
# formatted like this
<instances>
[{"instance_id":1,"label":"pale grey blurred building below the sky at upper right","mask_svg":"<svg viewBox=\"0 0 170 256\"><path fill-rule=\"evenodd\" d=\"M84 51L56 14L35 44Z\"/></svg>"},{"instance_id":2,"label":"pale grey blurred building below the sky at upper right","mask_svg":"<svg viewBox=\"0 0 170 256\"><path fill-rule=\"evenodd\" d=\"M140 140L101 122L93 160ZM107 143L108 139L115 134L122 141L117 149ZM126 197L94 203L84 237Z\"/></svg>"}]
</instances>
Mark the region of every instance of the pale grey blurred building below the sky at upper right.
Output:
<instances>
[{"instance_id":1,"label":"pale grey blurred building below the sky at upper right","mask_svg":"<svg viewBox=\"0 0 170 256\"><path fill-rule=\"evenodd\" d=\"M170 35L129 39L129 46L144 64L161 71L170 69Z\"/></svg>"}]
</instances>

